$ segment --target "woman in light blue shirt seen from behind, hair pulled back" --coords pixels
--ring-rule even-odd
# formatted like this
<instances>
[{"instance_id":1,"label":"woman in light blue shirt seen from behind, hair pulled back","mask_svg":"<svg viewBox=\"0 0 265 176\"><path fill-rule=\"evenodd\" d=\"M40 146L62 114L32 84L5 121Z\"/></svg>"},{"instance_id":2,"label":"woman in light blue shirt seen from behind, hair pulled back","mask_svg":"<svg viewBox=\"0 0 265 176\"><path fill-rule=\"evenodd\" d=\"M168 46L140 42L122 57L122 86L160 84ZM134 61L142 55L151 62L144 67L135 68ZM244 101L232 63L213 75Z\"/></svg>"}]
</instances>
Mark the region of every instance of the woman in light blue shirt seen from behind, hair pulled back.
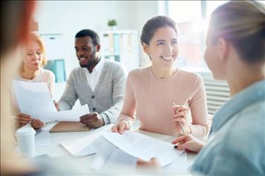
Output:
<instances>
[{"instance_id":1,"label":"woman in light blue shirt seen from behind, hair pulled back","mask_svg":"<svg viewBox=\"0 0 265 176\"><path fill-rule=\"evenodd\" d=\"M227 80L231 99L214 115L207 144L188 134L177 149L199 153L199 175L265 175L265 6L230 1L211 15L205 60L216 80ZM158 165L138 161L139 165Z\"/></svg>"}]
</instances>

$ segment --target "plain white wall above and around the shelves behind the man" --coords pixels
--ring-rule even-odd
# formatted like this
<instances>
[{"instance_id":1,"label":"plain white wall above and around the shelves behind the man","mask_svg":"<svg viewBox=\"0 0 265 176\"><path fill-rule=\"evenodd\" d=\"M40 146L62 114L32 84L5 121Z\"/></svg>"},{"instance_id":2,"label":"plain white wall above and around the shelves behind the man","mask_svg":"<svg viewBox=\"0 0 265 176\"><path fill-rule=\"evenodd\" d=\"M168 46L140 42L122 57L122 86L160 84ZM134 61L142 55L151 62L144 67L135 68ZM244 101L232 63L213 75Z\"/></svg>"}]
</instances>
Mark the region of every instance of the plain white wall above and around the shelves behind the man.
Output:
<instances>
[{"instance_id":1,"label":"plain white wall above and around the shelves behind the man","mask_svg":"<svg viewBox=\"0 0 265 176\"><path fill-rule=\"evenodd\" d=\"M107 20L116 19L119 30L138 30L140 65L149 62L140 44L141 30L146 21L158 15L157 1L37 1L35 20L40 34L63 34L66 78L78 67L74 36L83 29L108 30ZM64 84L55 87L55 99L64 91Z\"/></svg>"}]
</instances>

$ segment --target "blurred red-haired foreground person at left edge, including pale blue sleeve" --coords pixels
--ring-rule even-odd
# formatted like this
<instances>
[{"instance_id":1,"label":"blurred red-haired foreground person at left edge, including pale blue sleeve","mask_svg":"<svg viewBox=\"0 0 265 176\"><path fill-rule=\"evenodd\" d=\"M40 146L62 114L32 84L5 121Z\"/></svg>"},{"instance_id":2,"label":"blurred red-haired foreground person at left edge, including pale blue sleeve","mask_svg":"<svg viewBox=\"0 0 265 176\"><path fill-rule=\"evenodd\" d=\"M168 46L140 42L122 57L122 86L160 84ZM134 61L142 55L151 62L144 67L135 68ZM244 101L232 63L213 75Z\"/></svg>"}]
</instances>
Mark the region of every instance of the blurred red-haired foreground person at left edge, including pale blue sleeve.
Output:
<instances>
[{"instance_id":1,"label":"blurred red-haired foreground person at left edge, including pale blue sleeve","mask_svg":"<svg viewBox=\"0 0 265 176\"><path fill-rule=\"evenodd\" d=\"M20 48L30 42L34 9L35 1L1 1L1 175L85 175L88 173L86 163L74 165L74 158L42 156L30 161L20 158L15 149L8 84L18 73ZM65 168L65 165L71 167Z\"/></svg>"}]
</instances>

